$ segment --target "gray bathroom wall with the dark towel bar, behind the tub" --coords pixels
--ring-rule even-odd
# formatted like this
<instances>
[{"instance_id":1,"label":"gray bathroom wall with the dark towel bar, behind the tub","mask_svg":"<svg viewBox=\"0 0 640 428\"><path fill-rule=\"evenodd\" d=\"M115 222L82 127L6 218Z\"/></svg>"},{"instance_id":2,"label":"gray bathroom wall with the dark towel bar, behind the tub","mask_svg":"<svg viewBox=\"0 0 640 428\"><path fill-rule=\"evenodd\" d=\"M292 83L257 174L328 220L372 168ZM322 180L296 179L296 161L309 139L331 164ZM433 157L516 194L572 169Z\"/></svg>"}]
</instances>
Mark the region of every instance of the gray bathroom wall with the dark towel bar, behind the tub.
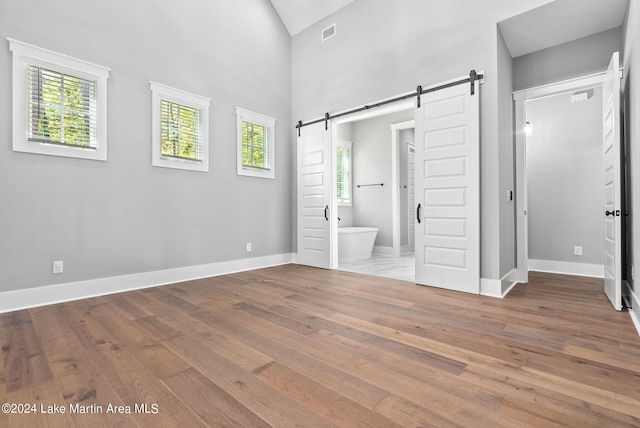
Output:
<instances>
[{"instance_id":1,"label":"gray bathroom wall with the dark towel bar, behind the tub","mask_svg":"<svg viewBox=\"0 0 640 428\"><path fill-rule=\"evenodd\" d=\"M353 225L377 227L380 247L393 247L391 124L413 118L412 109L352 123ZM372 183L384 186L357 187Z\"/></svg>"}]
</instances>

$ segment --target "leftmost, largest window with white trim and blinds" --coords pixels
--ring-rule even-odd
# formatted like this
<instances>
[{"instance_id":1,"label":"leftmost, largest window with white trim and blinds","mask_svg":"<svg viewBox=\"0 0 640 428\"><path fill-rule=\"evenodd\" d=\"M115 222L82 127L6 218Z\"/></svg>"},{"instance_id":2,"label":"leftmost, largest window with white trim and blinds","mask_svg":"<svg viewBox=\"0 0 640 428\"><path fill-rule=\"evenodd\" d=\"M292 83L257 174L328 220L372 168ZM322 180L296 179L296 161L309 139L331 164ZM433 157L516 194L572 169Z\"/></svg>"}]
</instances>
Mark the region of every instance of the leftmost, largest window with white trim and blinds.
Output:
<instances>
[{"instance_id":1,"label":"leftmost, largest window with white trim and blinds","mask_svg":"<svg viewBox=\"0 0 640 428\"><path fill-rule=\"evenodd\" d=\"M109 69L9 39L13 150L107 160Z\"/></svg>"}]
</instances>

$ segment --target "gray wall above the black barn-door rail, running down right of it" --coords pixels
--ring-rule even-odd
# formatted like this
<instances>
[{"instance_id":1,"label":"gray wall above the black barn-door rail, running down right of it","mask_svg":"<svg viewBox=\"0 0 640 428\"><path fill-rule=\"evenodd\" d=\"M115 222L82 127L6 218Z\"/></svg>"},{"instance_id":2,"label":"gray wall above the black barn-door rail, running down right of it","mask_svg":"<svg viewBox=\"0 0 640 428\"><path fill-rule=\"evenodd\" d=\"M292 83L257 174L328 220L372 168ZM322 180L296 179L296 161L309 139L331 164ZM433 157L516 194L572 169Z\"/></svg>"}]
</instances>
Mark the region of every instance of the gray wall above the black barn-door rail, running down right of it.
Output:
<instances>
[{"instance_id":1,"label":"gray wall above the black barn-door rail, running down right of it","mask_svg":"<svg viewBox=\"0 0 640 428\"><path fill-rule=\"evenodd\" d=\"M497 22L548 0L356 0L293 38L293 119L310 120L484 70L481 276L500 278ZM321 42L323 28L336 36ZM293 134L293 130L292 130ZM507 220L511 221L511 220ZM294 229L296 225L293 225ZM513 228L513 225L508 227Z\"/></svg>"}]
</instances>

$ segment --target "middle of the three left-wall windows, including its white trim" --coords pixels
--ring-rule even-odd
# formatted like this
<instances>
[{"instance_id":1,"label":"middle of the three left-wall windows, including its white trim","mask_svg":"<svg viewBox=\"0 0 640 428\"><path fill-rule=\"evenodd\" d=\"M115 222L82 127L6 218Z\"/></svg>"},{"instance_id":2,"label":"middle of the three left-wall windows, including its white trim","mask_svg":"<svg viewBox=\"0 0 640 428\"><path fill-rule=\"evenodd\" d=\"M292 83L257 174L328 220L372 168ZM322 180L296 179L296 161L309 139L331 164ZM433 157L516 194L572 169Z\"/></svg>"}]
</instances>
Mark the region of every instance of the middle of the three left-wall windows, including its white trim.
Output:
<instances>
[{"instance_id":1,"label":"middle of the three left-wall windows, including its white trim","mask_svg":"<svg viewBox=\"0 0 640 428\"><path fill-rule=\"evenodd\" d=\"M211 100L150 82L152 165L209 171Z\"/></svg>"}]
</instances>

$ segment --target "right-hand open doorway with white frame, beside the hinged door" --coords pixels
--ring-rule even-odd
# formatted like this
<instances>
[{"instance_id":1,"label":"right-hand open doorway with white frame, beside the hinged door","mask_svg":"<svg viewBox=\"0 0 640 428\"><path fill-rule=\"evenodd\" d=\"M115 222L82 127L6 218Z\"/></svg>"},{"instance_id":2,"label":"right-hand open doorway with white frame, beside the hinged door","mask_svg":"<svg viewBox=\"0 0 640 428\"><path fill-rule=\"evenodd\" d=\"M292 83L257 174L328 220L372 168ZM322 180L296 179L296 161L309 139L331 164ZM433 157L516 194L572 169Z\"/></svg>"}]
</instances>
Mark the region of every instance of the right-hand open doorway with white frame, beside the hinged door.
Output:
<instances>
[{"instance_id":1,"label":"right-hand open doorway with white frame, beside the hinged door","mask_svg":"<svg viewBox=\"0 0 640 428\"><path fill-rule=\"evenodd\" d=\"M529 269L604 277L602 82L514 93L519 282Z\"/></svg>"}]
</instances>

